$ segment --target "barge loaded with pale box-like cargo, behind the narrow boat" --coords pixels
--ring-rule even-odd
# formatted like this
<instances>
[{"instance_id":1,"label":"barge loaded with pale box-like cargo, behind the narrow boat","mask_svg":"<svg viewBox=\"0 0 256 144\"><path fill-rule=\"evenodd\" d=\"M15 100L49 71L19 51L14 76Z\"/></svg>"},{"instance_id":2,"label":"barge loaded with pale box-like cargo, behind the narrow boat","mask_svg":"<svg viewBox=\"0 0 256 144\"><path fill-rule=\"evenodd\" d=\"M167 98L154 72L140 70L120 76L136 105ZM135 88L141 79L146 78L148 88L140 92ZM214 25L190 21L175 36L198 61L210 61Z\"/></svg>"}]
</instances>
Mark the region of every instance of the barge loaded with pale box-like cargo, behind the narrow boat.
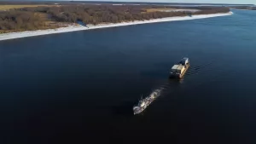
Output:
<instances>
[{"instance_id":1,"label":"barge loaded with pale box-like cargo, behind the narrow boat","mask_svg":"<svg viewBox=\"0 0 256 144\"><path fill-rule=\"evenodd\" d=\"M172 66L170 78L183 78L183 75L189 69L189 58L184 57L177 65Z\"/></svg>"}]
</instances>

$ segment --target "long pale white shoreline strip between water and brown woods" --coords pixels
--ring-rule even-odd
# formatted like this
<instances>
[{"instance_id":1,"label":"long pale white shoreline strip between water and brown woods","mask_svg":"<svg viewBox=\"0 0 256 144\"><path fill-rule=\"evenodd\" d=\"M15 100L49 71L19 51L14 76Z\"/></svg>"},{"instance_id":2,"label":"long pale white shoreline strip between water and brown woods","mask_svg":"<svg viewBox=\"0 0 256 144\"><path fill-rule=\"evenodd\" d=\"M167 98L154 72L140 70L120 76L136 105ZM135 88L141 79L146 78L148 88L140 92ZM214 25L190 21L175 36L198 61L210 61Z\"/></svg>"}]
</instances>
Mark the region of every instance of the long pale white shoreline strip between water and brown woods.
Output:
<instances>
[{"instance_id":1,"label":"long pale white shoreline strip between water and brown woods","mask_svg":"<svg viewBox=\"0 0 256 144\"><path fill-rule=\"evenodd\" d=\"M189 16L169 17L169 18L162 18L162 19L122 22L122 23L116 23L116 24L104 24L104 25L89 26L89 27L73 25L73 26L61 27L57 29L26 31L26 32L10 32L10 33L0 34L0 41L15 39L15 38L22 38L22 37L34 37L34 36L54 34L54 33L84 31L84 30L92 30L92 29L99 29L99 28L116 27L116 26L131 26L131 25L140 25L140 24L166 22L166 21L177 21L177 20L205 19L205 18L212 18L212 17L218 17L218 16L226 16L230 14L233 14L233 13L230 12L230 13L224 13L224 14L200 14L200 15L193 15L192 17L189 17Z\"/></svg>"}]
</instances>

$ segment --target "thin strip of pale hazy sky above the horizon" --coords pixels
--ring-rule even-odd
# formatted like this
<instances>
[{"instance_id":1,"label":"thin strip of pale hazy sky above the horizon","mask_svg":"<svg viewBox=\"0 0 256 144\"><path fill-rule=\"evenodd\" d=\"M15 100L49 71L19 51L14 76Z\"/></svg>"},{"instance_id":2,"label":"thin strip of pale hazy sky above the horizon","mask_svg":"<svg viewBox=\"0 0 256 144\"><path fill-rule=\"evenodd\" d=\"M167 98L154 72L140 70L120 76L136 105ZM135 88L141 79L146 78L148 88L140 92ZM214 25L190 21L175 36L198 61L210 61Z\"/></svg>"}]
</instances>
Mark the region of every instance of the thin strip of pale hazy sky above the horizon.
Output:
<instances>
[{"instance_id":1,"label":"thin strip of pale hazy sky above the horizon","mask_svg":"<svg viewBox=\"0 0 256 144\"><path fill-rule=\"evenodd\" d=\"M74 1L79 1L79 0L74 0ZM237 3L237 4L256 4L256 0L89 0L89 1L155 2L155 3L157 3L157 2L164 2L164 3Z\"/></svg>"}]
</instances>

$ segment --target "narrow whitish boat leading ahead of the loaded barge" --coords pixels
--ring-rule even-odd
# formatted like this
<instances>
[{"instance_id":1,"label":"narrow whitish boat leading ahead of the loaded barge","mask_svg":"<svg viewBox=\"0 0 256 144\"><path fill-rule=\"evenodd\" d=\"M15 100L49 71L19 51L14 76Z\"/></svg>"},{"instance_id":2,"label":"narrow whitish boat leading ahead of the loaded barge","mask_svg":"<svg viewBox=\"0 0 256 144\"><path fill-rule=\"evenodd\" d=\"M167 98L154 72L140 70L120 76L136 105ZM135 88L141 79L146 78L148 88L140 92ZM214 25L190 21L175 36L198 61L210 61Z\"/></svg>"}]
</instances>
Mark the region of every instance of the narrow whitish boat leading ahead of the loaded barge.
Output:
<instances>
[{"instance_id":1,"label":"narrow whitish boat leading ahead of the loaded barge","mask_svg":"<svg viewBox=\"0 0 256 144\"><path fill-rule=\"evenodd\" d=\"M157 97L160 96L161 89L154 90L148 97L145 99L141 99L137 106L133 107L133 113L134 115L139 114L140 112L143 112Z\"/></svg>"}]
</instances>

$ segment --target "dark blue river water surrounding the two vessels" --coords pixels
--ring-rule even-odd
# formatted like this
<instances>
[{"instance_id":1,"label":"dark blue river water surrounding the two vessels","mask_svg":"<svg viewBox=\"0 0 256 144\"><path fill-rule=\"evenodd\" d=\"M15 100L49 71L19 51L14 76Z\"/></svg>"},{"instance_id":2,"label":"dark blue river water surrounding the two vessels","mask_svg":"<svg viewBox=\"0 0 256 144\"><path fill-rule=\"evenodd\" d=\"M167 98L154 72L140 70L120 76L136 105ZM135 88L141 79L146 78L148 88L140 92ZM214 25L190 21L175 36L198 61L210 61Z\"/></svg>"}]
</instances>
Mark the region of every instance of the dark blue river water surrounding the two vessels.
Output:
<instances>
[{"instance_id":1,"label":"dark blue river water surrounding the two vessels","mask_svg":"<svg viewBox=\"0 0 256 144\"><path fill-rule=\"evenodd\" d=\"M0 42L0 143L255 143L256 11L234 12Z\"/></svg>"}]
</instances>

